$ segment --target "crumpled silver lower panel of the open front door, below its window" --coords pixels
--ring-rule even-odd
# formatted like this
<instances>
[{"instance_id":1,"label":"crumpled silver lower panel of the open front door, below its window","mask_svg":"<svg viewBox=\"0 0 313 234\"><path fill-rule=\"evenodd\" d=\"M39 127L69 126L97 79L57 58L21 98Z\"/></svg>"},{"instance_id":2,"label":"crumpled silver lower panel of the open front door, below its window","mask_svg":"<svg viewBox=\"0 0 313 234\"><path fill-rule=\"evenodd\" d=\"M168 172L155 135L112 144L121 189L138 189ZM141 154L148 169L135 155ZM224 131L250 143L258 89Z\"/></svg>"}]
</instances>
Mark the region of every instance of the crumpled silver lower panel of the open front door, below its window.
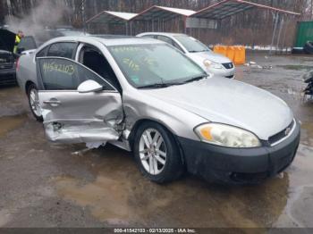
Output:
<instances>
[{"instance_id":1,"label":"crumpled silver lower panel of the open front door, below its window","mask_svg":"<svg viewBox=\"0 0 313 234\"><path fill-rule=\"evenodd\" d=\"M122 98L116 92L39 92L47 138L55 143L105 145L117 140L123 121ZM57 100L59 104L45 101ZM94 144L95 143L95 144Z\"/></svg>"}]
</instances>

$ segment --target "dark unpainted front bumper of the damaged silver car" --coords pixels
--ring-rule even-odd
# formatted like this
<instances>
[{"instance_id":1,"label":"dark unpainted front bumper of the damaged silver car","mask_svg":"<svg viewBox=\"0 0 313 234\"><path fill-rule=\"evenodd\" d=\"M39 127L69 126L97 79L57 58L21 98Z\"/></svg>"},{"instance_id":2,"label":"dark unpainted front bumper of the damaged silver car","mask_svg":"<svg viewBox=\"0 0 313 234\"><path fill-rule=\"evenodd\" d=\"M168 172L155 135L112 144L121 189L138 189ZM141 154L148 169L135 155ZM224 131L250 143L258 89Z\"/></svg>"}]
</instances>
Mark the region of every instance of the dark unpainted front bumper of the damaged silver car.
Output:
<instances>
[{"instance_id":1,"label":"dark unpainted front bumper of the damaged silver car","mask_svg":"<svg viewBox=\"0 0 313 234\"><path fill-rule=\"evenodd\" d=\"M300 124L276 146L230 148L178 137L187 169L205 180L254 184L288 167L300 143Z\"/></svg>"}]
</instances>

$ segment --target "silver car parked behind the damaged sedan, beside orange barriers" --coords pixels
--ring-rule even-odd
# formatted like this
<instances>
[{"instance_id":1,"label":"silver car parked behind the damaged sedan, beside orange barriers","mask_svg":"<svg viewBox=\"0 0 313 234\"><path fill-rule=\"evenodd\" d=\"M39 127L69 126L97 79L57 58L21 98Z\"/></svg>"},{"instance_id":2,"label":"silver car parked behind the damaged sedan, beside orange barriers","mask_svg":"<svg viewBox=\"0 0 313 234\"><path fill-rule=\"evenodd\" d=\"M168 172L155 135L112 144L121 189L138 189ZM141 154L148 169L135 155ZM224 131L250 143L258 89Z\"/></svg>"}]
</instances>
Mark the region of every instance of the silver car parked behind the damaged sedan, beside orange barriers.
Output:
<instances>
[{"instance_id":1,"label":"silver car parked behind the damaged sedan, beside orange barriers","mask_svg":"<svg viewBox=\"0 0 313 234\"><path fill-rule=\"evenodd\" d=\"M214 53L196 38L182 33L169 32L145 32L137 36L162 40L182 51L207 73L229 79L234 78L235 67L233 62L223 54Z\"/></svg>"}]
</instances>

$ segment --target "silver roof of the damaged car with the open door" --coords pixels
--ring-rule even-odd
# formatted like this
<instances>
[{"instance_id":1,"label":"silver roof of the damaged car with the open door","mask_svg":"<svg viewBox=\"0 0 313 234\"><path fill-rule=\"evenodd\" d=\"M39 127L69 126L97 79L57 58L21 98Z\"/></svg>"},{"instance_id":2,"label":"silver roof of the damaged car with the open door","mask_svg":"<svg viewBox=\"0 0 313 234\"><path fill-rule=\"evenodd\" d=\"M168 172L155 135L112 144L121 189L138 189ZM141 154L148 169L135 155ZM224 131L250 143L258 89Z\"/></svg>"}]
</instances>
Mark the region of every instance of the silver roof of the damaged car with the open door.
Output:
<instances>
[{"instance_id":1,"label":"silver roof of the damaged car with the open door","mask_svg":"<svg viewBox=\"0 0 313 234\"><path fill-rule=\"evenodd\" d=\"M86 35L54 38L46 44L62 41L80 41L92 44L97 41L105 46L141 45L141 44L165 44L165 42L153 38L139 38L123 35Z\"/></svg>"}]
</instances>

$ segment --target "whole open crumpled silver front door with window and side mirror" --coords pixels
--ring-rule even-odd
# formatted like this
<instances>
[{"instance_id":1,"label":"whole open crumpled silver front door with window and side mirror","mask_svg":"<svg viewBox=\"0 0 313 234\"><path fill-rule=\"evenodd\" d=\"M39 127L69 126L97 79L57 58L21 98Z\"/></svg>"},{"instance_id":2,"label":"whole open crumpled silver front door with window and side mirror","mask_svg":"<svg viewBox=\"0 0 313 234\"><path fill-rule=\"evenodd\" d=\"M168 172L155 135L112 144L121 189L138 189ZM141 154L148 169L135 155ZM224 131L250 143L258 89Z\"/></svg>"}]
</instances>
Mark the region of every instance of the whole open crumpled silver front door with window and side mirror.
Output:
<instances>
[{"instance_id":1,"label":"whole open crumpled silver front door with window and side mirror","mask_svg":"<svg viewBox=\"0 0 313 234\"><path fill-rule=\"evenodd\" d=\"M94 71L70 59L37 59L38 99L47 138L100 146L117 140L121 94Z\"/></svg>"}]
</instances>

